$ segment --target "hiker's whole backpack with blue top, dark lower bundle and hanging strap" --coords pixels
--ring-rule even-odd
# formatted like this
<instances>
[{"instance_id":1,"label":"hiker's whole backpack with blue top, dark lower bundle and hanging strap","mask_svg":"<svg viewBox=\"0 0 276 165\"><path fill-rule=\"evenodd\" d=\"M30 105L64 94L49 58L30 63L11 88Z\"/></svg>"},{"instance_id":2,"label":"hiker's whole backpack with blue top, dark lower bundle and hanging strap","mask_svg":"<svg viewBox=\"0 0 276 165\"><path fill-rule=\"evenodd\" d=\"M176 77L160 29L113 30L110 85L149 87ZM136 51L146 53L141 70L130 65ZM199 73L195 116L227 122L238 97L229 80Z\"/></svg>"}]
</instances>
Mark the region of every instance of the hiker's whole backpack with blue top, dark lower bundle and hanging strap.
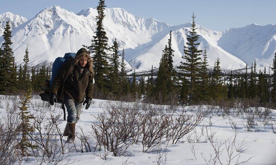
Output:
<instances>
[{"instance_id":1,"label":"hiker's whole backpack with blue top, dark lower bundle and hanging strap","mask_svg":"<svg viewBox=\"0 0 276 165\"><path fill-rule=\"evenodd\" d=\"M61 68L61 66L63 64L70 62L71 66L70 66L69 74L66 76L64 81L60 83L59 89L57 91L57 102L62 104L61 108L64 111L64 120L66 119L66 116L65 116L65 107L64 107L64 103L63 103L63 86L64 86L64 82L68 78L68 76L73 73L73 69L74 69L74 65L75 65L74 64L75 56L76 56L76 53L65 53L64 57L57 57L55 59L53 66L52 66L51 80L45 80L43 86L41 87L41 90L43 90L44 92L39 94L39 96L41 97L41 100L49 102L50 90L51 90L51 86L53 84L55 75L57 74L57 72L59 71L59 69Z\"/></svg>"}]
</instances>

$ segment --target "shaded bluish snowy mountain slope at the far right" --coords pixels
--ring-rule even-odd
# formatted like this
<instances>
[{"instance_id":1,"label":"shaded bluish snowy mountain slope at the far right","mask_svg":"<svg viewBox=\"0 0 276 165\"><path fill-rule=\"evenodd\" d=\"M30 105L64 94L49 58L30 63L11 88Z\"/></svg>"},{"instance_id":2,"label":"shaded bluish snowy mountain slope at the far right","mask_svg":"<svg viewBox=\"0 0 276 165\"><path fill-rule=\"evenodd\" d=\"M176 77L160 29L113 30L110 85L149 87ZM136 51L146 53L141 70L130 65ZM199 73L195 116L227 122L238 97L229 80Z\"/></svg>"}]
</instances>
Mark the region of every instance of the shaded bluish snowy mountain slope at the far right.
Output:
<instances>
[{"instance_id":1,"label":"shaded bluish snowy mountain slope at the far right","mask_svg":"<svg viewBox=\"0 0 276 165\"><path fill-rule=\"evenodd\" d=\"M256 58L259 68L268 68L276 52L276 25L251 24L227 29L217 43L219 47L243 60L250 67Z\"/></svg>"}]
</instances>

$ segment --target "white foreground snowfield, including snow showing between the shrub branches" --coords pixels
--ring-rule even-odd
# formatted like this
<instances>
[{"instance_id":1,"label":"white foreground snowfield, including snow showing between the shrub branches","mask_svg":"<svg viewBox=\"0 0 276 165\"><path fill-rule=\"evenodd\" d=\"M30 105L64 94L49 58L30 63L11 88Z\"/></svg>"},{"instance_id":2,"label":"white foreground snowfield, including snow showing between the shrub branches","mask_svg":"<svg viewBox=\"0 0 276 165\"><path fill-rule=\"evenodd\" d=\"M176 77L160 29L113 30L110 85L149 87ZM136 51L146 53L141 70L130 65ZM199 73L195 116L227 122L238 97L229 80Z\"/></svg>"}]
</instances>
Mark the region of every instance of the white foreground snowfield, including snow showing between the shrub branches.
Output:
<instances>
[{"instance_id":1,"label":"white foreground snowfield, including snow showing between the shrub branches","mask_svg":"<svg viewBox=\"0 0 276 165\"><path fill-rule=\"evenodd\" d=\"M14 98L14 96L0 96L1 97L1 104L0 104L0 115L1 118L7 116L6 109L12 109L12 105L19 102L19 99ZM13 101L15 100L15 102ZM272 109L265 109L262 107L249 107L246 109L247 111L251 111L252 113L245 113L241 109L234 108L234 109L227 109L221 107L221 109L217 106L208 106L208 105L198 105L198 106L186 106L186 107L173 107L173 109L169 109L169 106L155 106L153 104L145 105L139 104L139 108L135 109L134 102L117 102L117 101L108 101L108 100L99 100L93 99L92 104L89 109L85 110L82 109L81 117L78 123L76 124L76 135L75 140L75 147L73 144L64 144L66 142L66 137L62 138L62 142L64 145L64 154L60 154L61 148L61 141L59 138L59 133L56 129L52 129L52 132L49 130L51 127L51 115L52 117L56 117L60 115L59 119L57 120L58 128L63 131L66 121L63 121L63 112L59 109L60 104L56 104L56 107L51 106L47 107L48 104L41 101L38 96L34 96L31 99L30 114L33 114L37 117L37 120L41 118L41 116L45 116L42 124L41 124L41 132L43 136L47 137L46 135L51 135L49 138L50 142L55 142L55 145L51 146L51 149L58 151L55 155L54 162L49 161L52 160L53 155L50 158L45 158L45 162L42 164L55 164L57 160L60 161L57 164L95 164L95 165L121 165L121 164L139 164L139 165L153 165L153 164L169 164L169 165L203 165L203 164L238 164L242 163L243 161L247 161L245 165L273 165L276 164L276 134L273 133L273 129L271 126L274 127L274 131L276 131L276 123L275 123L275 110ZM9 106L8 106L9 105ZM147 114L144 117L148 117L146 123L150 123L149 121L153 121L152 119L158 119L154 125L161 126L162 120L166 116L171 116L172 118L177 118L181 116L181 114L185 114L185 116L190 116L193 119L196 119L199 112L204 112L205 116L202 120L195 126L194 129L190 130L189 133L184 135L183 137L179 138L179 140L175 143L173 139L177 138L179 133L175 132L171 134L169 137L166 136L167 134L163 134L164 136L161 137L161 142L158 143L159 140L155 141L151 145L151 147L147 148L147 146L143 145L143 138L148 139L151 141L145 134L140 134L139 138L137 139L137 143L132 144L134 142L134 137L129 138L124 143L117 145L118 148L122 150L118 152L117 156L115 157L114 154L110 151L105 151L103 145L101 145L101 149L99 151L99 143L97 143L97 139L95 138L95 132L92 129L92 125L96 127L99 125L99 118L100 116L105 116L106 118L110 117L111 114L108 112L108 107L113 107L113 111L115 112L116 108L121 107L120 109L120 117L123 117L123 112L130 113L130 112L137 112L140 114ZM128 109L125 109L127 108ZM133 108L134 107L134 108ZM155 107L155 109L153 108ZM234 106L235 107L235 106ZM51 109L51 110L50 110ZM123 111L125 109L126 111ZM154 110L153 110L154 109ZM109 109L110 110L110 109ZM117 109L118 110L118 109ZM152 110L152 111L151 111ZM245 111L246 111L245 110ZM223 113L223 112L228 112ZM253 120L253 114L255 112L269 112L269 115L265 117L265 115L255 115ZM154 115L149 115L150 112L156 112ZM207 113L208 112L208 113ZM238 113L240 112L240 113ZM241 113L243 112L243 113ZM197 114L197 115L196 115ZM137 115L137 119L139 115ZM151 116L151 117L149 117ZM118 116L117 116L118 117ZM112 123L114 125L110 126L109 132L110 137L115 137L116 132L121 132L121 129L117 129L123 120L122 118L110 118L110 120L106 120L106 123ZM140 115L143 117L143 115ZM120 119L119 119L120 118ZM118 120L116 120L118 119ZM128 118L131 120L131 118ZM1 121L4 121L2 119ZM117 121L117 122L116 122ZM118 121L120 121L118 123ZM137 120L138 121L138 120ZM192 120L187 120L192 121ZM253 122L253 127L251 131L246 131L249 128L248 121ZM33 123L33 120L31 120ZM117 123L117 124L116 124ZM166 127L162 127L162 130L172 132L175 130L177 121L174 120L173 125L167 125ZM181 124L181 123L179 123ZM132 122L131 125L137 125L137 122ZM154 127L151 125L151 127ZM183 127L189 125L189 122L185 122ZM190 125L191 127L193 125ZM142 126L137 127L137 130L142 131ZM44 129L47 128L50 133L44 134ZM116 130L116 132L112 132L112 129ZM128 128L127 126L124 128ZM149 130L149 125L146 125L145 130ZM82 133L82 131L83 133ZM98 129L99 130L99 129ZM158 127L155 127L156 131ZM162 132L161 130L161 132ZM181 129L180 129L181 130ZM35 133L38 133L38 130L35 130ZM161 133L159 132L159 133ZM236 132L236 134L235 134ZM98 132L99 133L99 132ZM120 134L121 135L121 134ZM144 136L145 135L145 136ZM150 134L147 134L150 135ZM152 134L153 135L153 134ZM236 135L236 136L235 136ZM157 135L153 135L155 137ZM79 137L79 138L78 138ZM118 138L118 136L115 137ZM136 136L137 138L137 136ZM166 140L166 138L168 138ZM87 143L81 143L80 139L86 139ZM121 141L120 139L117 139ZM44 140L46 142L46 138ZM173 142L174 141L174 142ZM35 143L33 143L35 144ZM46 143L45 143L46 144ZM89 146L88 146L89 144ZM157 145L158 144L158 145ZM114 145L115 146L115 145ZM143 147L144 146L144 147ZM89 152L89 147L91 152ZM95 149L96 147L96 149ZM54 149L56 148L56 149ZM86 152L86 149L88 152ZM81 153L83 150L83 153ZM218 154L215 153L215 150ZM124 154L119 156L120 153ZM143 152L144 151L144 152ZM152 152L151 152L152 151ZM237 152L238 151L238 152ZM42 150L39 150L40 155L35 158L33 156L28 157L28 161L22 161L22 164L40 164L42 159ZM29 152L30 155L33 155L33 152ZM216 157L217 155L217 157ZM230 156L229 156L230 155ZM62 157L63 156L63 157ZM230 157L230 158L229 158ZM249 160L248 160L249 159ZM23 159L24 160L24 159ZM214 163L216 161L216 163Z\"/></svg>"}]
</instances>

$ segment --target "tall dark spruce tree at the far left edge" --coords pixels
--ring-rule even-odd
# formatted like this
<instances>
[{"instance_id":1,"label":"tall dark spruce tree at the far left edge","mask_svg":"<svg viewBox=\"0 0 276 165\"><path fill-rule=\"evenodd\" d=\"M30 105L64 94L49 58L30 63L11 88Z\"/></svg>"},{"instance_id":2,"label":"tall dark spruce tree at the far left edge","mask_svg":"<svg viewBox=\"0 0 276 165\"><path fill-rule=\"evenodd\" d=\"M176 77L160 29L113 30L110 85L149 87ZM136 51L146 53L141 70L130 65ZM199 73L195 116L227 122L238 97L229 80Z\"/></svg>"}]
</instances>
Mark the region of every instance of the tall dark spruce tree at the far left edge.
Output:
<instances>
[{"instance_id":1,"label":"tall dark spruce tree at the far left edge","mask_svg":"<svg viewBox=\"0 0 276 165\"><path fill-rule=\"evenodd\" d=\"M11 48L12 32L10 30L9 21L6 23L3 37L4 43L1 46L0 53L0 94L16 91L17 73L14 62L14 52Z\"/></svg>"}]
</instances>

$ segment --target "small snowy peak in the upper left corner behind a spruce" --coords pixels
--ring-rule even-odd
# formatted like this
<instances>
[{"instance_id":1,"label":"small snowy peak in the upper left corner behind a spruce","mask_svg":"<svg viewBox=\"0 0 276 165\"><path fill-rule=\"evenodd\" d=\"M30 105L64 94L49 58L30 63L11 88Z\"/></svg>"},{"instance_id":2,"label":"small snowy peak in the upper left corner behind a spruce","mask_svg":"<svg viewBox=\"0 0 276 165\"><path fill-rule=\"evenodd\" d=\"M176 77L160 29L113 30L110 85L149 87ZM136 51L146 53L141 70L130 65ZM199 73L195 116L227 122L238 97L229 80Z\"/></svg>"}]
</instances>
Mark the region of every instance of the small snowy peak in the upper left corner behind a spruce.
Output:
<instances>
[{"instance_id":1,"label":"small snowy peak in the upper left corner behind a spruce","mask_svg":"<svg viewBox=\"0 0 276 165\"><path fill-rule=\"evenodd\" d=\"M14 29L27 20L28 19L26 19L25 17L19 16L17 14L12 14L11 12L0 14L0 35L2 36L3 32L5 31L6 22L10 21L10 27Z\"/></svg>"}]
</instances>

